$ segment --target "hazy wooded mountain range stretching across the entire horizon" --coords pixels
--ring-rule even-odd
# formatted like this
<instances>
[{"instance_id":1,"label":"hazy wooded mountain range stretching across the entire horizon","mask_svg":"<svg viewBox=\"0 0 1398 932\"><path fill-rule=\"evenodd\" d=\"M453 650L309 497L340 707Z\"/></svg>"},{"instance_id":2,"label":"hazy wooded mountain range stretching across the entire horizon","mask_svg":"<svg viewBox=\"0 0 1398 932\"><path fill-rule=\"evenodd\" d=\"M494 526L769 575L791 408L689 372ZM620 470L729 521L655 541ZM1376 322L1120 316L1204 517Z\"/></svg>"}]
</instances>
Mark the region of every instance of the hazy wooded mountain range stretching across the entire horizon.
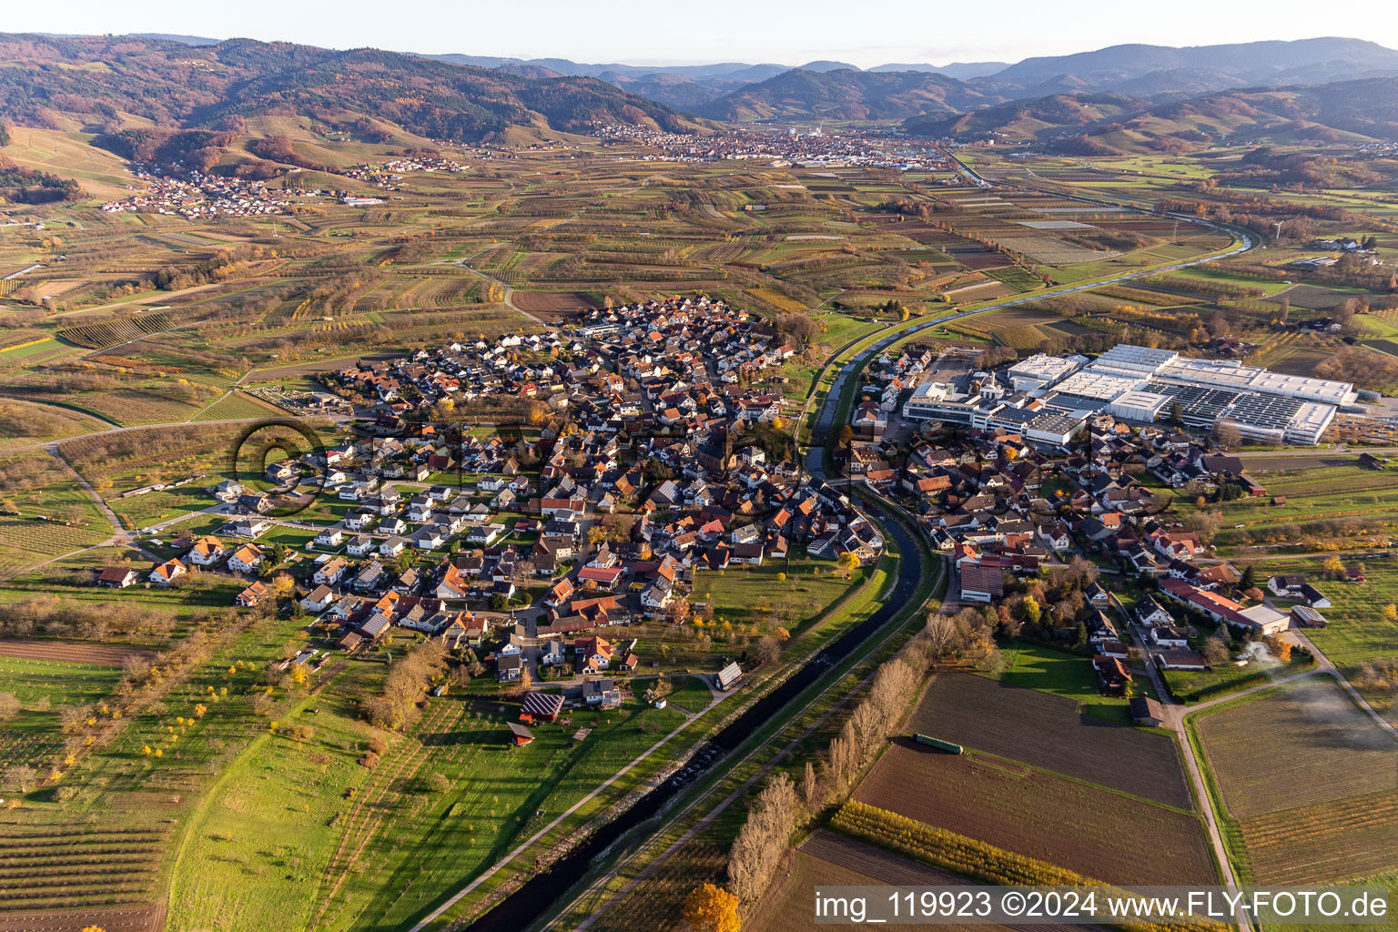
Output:
<instances>
[{"instance_id":1,"label":"hazy wooded mountain range stretching across the entire horizon","mask_svg":"<svg viewBox=\"0 0 1398 932\"><path fill-rule=\"evenodd\" d=\"M1342 38L1121 45L1015 64L860 70L842 61L579 64L161 34L0 34L0 119L89 131L133 117L190 129L299 115L375 137L384 134L377 122L478 141L516 130L586 133L597 123L686 131L713 122L833 120L1092 154L1225 137L1398 138L1395 109L1398 52Z\"/></svg>"}]
</instances>

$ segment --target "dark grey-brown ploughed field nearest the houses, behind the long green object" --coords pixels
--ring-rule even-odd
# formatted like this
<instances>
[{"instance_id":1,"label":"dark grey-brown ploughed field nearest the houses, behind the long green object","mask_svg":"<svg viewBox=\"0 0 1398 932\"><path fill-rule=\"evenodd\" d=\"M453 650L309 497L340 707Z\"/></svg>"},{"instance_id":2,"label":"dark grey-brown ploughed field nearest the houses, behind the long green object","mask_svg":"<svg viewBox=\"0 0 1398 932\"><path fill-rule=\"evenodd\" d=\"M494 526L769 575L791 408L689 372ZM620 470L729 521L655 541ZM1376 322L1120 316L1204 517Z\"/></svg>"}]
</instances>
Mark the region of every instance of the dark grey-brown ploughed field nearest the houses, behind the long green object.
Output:
<instances>
[{"instance_id":1,"label":"dark grey-brown ploughed field nearest the houses, behind the long green object","mask_svg":"<svg viewBox=\"0 0 1398 932\"><path fill-rule=\"evenodd\" d=\"M1120 792L1192 808L1167 734L1083 717L1078 703L972 673L939 673L909 728Z\"/></svg>"}]
</instances>

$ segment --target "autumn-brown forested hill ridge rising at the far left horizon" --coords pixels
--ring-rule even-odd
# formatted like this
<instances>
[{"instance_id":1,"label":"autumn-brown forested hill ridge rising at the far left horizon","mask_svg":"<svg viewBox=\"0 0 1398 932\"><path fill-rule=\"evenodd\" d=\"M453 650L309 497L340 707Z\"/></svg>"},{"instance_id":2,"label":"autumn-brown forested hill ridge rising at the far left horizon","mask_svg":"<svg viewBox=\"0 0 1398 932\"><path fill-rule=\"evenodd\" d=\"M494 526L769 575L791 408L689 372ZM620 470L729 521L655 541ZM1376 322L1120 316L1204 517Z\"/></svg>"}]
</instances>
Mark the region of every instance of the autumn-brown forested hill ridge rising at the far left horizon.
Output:
<instances>
[{"instance_id":1,"label":"autumn-brown forested hill ridge rising at the far left horizon","mask_svg":"<svg viewBox=\"0 0 1398 932\"><path fill-rule=\"evenodd\" d=\"M362 116L450 141L480 141L514 126L570 133L598 122L693 126L596 78L531 78L377 49L0 34L0 119L14 123L109 131L124 115L211 127L268 113Z\"/></svg>"}]
</instances>

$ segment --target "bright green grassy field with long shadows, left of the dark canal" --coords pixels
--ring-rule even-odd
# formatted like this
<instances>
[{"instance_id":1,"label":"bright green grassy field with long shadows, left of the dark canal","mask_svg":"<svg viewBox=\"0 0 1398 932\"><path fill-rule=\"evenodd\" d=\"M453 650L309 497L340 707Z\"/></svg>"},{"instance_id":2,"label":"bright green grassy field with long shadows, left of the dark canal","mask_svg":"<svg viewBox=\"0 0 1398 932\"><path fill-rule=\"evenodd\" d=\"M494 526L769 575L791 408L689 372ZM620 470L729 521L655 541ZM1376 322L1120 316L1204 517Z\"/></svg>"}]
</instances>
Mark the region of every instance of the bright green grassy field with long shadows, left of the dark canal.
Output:
<instances>
[{"instance_id":1,"label":"bright green grassy field with long shadows, left of the dark canal","mask_svg":"<svg viewBox=\"0 0 1398 932\"><path fill-rule=\"evenodd\" d=\"M370 770L359 760L372 729L354 696L373 667L352 662L317 713L288 722L312 738L260 739L239 759L196 815L172 921L217 924L236 905L288 928L405 924L684 718L635 706L577 711L534 725L534 743L513 748L506 722L517 706L449 696ZM580 727L593 734L575 748Z\"/></svg>"}]
</instances>

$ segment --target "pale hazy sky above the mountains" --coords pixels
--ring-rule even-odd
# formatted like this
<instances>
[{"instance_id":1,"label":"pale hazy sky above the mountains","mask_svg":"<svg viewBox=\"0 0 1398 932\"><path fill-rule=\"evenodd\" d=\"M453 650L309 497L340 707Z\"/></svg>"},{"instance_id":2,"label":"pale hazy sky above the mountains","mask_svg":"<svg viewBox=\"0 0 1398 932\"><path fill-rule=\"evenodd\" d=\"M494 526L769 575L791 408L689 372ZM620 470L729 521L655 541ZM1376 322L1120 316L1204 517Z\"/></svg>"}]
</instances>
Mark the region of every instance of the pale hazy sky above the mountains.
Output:
<instances>
[{"instance_id":1,"label":"pale hazy sky above the mountains","mask_svg":"<svg viewBox=\"0 0 1398 932\"><path fill-rule=\"evenodd\" d=\"M604 63L1018 61L1120 42L1213 45L1325 32L1314 3L1173 0L7 0L14 32L175 32L350 49ZM1339 35L1398 48L1398 6L1345 4Z\"/></svg>"}]
</instances>

